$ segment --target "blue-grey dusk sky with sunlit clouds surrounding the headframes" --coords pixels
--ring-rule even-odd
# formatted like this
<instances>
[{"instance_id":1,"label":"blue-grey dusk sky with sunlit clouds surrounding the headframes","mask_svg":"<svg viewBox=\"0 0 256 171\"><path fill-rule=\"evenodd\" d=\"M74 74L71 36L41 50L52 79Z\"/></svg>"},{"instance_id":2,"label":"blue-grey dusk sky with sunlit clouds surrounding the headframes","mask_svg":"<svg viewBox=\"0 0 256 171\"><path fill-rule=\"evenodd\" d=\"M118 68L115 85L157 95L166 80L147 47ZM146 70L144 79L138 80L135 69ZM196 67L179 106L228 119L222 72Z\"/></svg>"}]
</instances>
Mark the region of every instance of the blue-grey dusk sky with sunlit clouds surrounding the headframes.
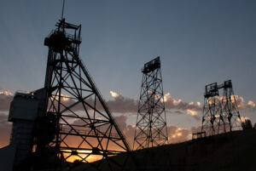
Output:
<instances>
[{"instance_id":1,"label":"blue-grey dusk sky with sunlit clouds surrounding the headframes","mask_svg":"<svg viewBox=\"0 0 256 171\"><path fill-rule=\"evenodd\" d=\"M61 6L62 0L1 0L0 136L9 134L12 94L44 86L44 37ZM82 25L80 58L126 131L136 122L143 64L160 56L173 139L201 124L205 85L228 79L241 117L256 123L255 16L253 0L66 0L64 12L67 22Z\"/></svg>"}]
</instances>

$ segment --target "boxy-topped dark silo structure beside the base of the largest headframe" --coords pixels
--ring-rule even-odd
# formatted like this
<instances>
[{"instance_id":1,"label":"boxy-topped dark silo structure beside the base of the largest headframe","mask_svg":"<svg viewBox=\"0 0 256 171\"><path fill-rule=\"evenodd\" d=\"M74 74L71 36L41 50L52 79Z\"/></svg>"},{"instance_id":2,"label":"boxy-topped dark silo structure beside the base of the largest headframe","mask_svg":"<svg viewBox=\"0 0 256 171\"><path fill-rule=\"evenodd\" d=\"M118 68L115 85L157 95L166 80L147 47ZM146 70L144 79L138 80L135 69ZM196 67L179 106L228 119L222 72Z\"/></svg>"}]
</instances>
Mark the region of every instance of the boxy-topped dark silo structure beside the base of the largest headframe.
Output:
<instances>
[{"instance_id":1,"label":"boxy-topped dark silo structure beside the base of the largest headframe","mask_svg":"<svg viewBox=\"0 0 256 171\"><path fill-rule=\"evenodd\" d=\"M15 165L24 162L32 151L33 130L38 116L39 100L33 93L16 92L9 110L13 123L10 145L16 146Z\"/></svg>"}]
</instances>

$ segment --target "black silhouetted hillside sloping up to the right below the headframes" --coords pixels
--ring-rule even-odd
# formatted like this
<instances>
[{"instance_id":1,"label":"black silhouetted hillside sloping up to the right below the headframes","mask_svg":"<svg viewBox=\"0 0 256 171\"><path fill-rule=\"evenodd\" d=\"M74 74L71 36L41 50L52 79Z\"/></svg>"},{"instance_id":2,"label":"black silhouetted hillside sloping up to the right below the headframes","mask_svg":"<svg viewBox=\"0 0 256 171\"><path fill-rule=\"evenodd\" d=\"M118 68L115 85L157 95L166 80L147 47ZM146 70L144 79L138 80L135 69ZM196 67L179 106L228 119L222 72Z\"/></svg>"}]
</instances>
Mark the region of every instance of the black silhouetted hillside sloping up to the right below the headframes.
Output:
<instances>
[{"instance_id":1,"label":"black silhouetted hillside sloping up to the right below the headframes","mask_svg":"<svg viewBox=\"0 0 256 171\"><path fill-rule=\"evenodd\" d=\"M138 167L130 157L125 170L256 171L256 129L135 151L133 156ZM123 160L124 156L114 158ZM76 170L87 167L84 163Z\"/></svg>"}]
</instances>

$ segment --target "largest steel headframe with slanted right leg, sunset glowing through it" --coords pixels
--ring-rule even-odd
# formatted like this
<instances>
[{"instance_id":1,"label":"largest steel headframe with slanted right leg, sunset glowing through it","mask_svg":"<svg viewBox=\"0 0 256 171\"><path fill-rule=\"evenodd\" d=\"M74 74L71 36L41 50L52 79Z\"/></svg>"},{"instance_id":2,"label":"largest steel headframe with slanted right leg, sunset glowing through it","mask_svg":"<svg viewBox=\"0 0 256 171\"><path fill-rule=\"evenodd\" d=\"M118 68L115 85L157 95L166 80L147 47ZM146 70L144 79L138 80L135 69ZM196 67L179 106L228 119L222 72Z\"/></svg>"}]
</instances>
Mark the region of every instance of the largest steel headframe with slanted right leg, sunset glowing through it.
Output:
<instances>
[{"instance_id":1,"label":"largest steel headframe with slanted right leg, sunset glowing through it","mask_svg":"<svg viewBox=\"0 0 256 171\"><path fill-rule=\"evenodd\" d=\"M56 27L44 41L49 47L48 105L35 150L44 159L36 167L73 170L80 164L90 170L122 170L126 158L115 161L113 156L130 147L79 58L81 26L62 19Z\"/></svg>"}]
</instances>

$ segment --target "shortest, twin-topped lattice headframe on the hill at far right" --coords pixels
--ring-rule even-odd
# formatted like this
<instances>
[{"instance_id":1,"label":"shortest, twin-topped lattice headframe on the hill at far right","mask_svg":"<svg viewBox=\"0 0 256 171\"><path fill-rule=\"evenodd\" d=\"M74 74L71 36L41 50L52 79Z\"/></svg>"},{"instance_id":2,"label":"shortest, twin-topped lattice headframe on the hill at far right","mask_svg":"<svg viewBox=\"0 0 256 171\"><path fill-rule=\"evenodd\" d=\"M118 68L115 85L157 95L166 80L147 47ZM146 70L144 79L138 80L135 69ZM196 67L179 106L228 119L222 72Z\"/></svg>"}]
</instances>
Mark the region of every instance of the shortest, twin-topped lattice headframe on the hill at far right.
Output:
<instances>
[{"instance_id":1,"label":"shortest, twin-topped lattice headframe on the hill at far right","mask_svg":"<svg viewBox=\"0 0 256 171\"><path fill-rule=\"evenodd\" d=\"M219 90L223 95L219 96ZM206 86L201 131L207 135L241 129L241 117L231 80Z\"/></svg>"}]
</instances>

